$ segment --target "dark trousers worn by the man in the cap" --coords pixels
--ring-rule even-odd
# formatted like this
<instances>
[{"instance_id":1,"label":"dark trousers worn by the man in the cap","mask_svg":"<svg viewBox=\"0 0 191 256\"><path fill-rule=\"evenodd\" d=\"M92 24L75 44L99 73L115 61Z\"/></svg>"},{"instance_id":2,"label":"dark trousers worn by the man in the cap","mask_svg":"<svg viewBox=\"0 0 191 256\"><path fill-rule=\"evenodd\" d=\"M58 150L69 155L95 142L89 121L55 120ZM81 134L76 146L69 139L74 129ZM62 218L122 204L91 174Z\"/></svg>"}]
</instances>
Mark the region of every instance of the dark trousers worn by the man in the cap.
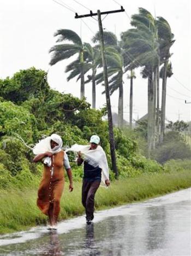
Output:
<instances>
[{"instance_id":1,"label":"dark trousers worn by the man in the cap","mask_svg":"<svg viewBox=\"0 0 191 256\"><path fill-rule=\"evenodd\" d=\"M94 197L100 185L100 180L87 181L83 180L82 185L82 204L86 209L86 217L92 217L94 212Z\"/></svg>"}]
</instances>

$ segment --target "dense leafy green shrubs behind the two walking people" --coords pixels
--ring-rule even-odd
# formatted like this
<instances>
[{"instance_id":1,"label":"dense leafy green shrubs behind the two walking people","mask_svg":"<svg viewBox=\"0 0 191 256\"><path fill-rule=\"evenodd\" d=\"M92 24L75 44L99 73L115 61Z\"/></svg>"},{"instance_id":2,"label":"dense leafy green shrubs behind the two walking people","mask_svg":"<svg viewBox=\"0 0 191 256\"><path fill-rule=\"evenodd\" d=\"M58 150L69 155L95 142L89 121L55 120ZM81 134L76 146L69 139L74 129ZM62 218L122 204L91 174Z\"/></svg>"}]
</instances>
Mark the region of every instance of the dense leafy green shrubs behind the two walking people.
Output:
<instances>
[{"instance_id":1,"label":"dense leafy green shrubs behind the two walking people","mask_svg":"<svg viewBox=\"0 0 191 256\"><path fill-rule=\"evenodd\" d=\"M0 99L0 164L1 169L5 169L2 179L11 177L9 182L17 185L39 182L43 165L32 163L32 150L21 140L32 147L44 135L52 133L61 135L66 149L75 143L86 145L92 134L99 135L111 169L108 122L103 121L105 109L90 109L85 99L50 89L46 73L34 68L0 80L0 92L3 96ZM159 164L138 153L137 133L128 136L114 128L114 136L120 177L159 172ZM82 167L76 166L76 155L72 152L68 155L74 179L81 179Z\"/></svg>"}]
</instances>

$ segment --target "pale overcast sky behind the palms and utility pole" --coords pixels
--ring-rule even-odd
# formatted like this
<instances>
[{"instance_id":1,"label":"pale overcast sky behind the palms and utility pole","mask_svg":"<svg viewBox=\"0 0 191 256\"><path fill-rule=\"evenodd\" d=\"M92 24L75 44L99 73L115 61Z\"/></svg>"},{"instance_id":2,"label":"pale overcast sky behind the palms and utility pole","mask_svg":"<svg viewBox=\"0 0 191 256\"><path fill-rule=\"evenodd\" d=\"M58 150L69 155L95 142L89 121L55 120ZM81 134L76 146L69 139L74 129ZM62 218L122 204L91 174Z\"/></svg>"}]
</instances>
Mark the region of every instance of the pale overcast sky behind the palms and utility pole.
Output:
<instances>
[{"instance_id":1,"label":"pale overcast sky behind the palms and utility pole","mask_svg":"<svg viewBox=\"0 0 191 256\"><path fill-rule=\"evenodd\" d=\"M127 13L110 14L103 20L105 29L116 32L118 39L122 31L130 29L128 16L138 13L138 8L146 8L156 16L168 20L176 42L171 47L174 75L168 78L166 98L166 118L176 121L178 118L190 121L191 102L190 87L190 0L56 0L67 4L67 9L52 0L0 0L0 78L13 76L21 69L36 67L49 71L48 81L51 88L60 92L80 95L80 82L75 79L67 82L64 73L67 61L58 62L50 67L49 49L55 44L53 33L58 29L71 29L81 35L83 42L91 43L93 34L98 31L97 21L92 18L74 19L74 12L87 14L88 9L96 12L119 9L123 5ZM85 22L86 25L83 23ZM147 81L135 70L134 113L133 118L147 113ZM129 118L129 79L124 75L124 118ZM160 80L162 84L162 80ZM97 86L97 108L105 104L103 87ZM85 87L85 96L92 101L91 84ZM111 96L112 110L117 111L118 92Z\"/></svg>"}]
</instances>

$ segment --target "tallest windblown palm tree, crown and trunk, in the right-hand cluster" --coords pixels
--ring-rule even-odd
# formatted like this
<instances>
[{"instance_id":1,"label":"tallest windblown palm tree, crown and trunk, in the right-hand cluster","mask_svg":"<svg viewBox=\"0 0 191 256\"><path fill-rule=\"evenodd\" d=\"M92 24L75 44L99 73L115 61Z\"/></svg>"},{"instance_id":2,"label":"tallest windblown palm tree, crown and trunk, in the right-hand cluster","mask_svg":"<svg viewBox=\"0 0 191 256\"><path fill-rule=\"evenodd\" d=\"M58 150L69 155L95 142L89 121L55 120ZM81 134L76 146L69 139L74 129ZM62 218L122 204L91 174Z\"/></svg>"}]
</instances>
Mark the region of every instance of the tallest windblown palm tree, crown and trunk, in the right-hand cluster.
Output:
<instances>
[{"instance_id":1,"label":"tallest windblown palm tree, crown and trunk, in the right-hand cluster","mask_svg":"<svg viewBox=\"0 0 191 256\"><path fill-rule=\"evenodd\" d=\"M130 29L122 33L124 50L127 49L131 62L128 69L143 67L142 76L148 79L148 155L155 142L156 123L156 83L153 83L153 72L157 72L158 65L158 36L156 22L144 8L139 8L139 14L132 15ZM154 75L156 76L156 75Z\"/></svg>"}]
</instances>

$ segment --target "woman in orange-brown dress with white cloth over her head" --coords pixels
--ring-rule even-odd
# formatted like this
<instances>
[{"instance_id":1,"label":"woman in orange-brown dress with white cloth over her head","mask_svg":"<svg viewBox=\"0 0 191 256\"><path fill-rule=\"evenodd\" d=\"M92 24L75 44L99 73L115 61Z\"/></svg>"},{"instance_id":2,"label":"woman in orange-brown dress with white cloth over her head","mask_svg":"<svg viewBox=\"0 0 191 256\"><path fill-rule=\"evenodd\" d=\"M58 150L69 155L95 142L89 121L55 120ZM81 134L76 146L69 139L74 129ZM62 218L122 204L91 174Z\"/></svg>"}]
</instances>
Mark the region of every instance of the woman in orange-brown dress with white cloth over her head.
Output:
<instances>
[{"instance_id":1,"label":"woman in orange-brown dress with white cloth over her head","mask_svg":"<svg viewBox=\"0 0 191 256\"><path fill-rule=\"evenodd\" d=\"M37 155L33 162L43 161L44 173L38 190L37 206L49 216L49 229L57 229L60 200L64 189L64 168L70 181L69 190L73 191L73 179L67 154L61 149L62 139L57 134L41 140L33 152ZM39 153L41 151L41 153ZM45 151L45 152L43 152Z\"/></svg>"}]
</instances>

